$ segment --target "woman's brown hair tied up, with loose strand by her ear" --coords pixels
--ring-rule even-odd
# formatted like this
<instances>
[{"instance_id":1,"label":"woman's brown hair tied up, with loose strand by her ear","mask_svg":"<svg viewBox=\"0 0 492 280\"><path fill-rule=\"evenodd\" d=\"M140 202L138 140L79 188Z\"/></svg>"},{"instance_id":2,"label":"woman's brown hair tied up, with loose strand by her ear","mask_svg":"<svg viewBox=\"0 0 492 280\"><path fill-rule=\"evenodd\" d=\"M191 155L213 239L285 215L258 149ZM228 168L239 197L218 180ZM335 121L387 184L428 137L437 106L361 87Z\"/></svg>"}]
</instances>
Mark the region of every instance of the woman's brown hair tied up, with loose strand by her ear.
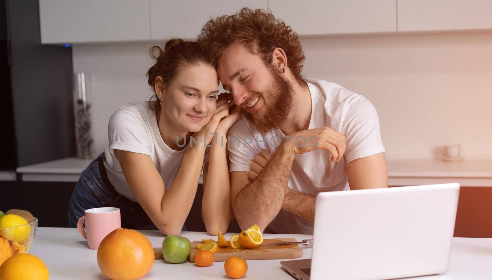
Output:
<instances>
[{"instance_id":1,"label":"woman's brown hair tied up, with loose strand by her ear","mask_svg":"<svg viewBox=\"0 0 492 280\"><path fill-rule=\"evenodd\" d=\"M155 93L155 83L158 76L162 77L164 87L168 87L179 75L185 66L204 63L213 66L212 60L197 42L187 42L183 39L171 39L164 45L164 50L154 46L149 51L155 60L154 66L147 71L149 85L154 94L149 100L149 107L155 112L156 118L160 115L160 101Z\"/></svg>"}]
</instances>

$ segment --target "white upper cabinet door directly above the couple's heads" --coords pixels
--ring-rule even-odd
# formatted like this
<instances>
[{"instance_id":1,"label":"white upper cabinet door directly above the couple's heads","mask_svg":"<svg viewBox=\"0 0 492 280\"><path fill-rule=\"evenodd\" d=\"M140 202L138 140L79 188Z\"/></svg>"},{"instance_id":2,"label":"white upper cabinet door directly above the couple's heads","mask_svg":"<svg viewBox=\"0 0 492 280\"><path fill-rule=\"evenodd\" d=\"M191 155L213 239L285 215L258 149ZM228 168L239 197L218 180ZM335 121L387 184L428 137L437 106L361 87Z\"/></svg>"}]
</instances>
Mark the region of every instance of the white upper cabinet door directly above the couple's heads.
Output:
<instances>
[{"instance_id":1,"label":"white upper cabinet door directly above the couple's heads","mask_svg":"<svg viewBox=\"0 0 492 280\"><path fill-rule=\"evenodd\" d=\"M230 15L245 6L266 10L267 0L150 0L151 38L194 40L211 17Z\"/></svg>"}]
</instances>

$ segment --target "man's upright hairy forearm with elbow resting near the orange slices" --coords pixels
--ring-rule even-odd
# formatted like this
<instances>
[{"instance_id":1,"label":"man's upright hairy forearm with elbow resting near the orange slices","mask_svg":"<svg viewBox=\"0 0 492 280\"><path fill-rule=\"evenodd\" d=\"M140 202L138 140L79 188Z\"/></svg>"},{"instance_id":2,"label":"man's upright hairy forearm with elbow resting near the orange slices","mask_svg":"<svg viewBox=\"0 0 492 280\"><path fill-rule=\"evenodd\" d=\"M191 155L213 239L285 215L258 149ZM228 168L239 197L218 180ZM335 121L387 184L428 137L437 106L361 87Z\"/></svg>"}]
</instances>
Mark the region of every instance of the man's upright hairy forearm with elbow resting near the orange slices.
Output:
<instances>
[{"instance_id":1,"label":"man's upright hairy forearm with elbow resting near the orange slices","mask_svg":"<svg viewBox=\"0 0 492 280\"><path fill-rule=\"evenodd\" d=\"M282 144L261 174L233 198L234 213L241 229L256 224L263 231L282 207L294 160L294 153Z\"/></svg>"}]
</instances>

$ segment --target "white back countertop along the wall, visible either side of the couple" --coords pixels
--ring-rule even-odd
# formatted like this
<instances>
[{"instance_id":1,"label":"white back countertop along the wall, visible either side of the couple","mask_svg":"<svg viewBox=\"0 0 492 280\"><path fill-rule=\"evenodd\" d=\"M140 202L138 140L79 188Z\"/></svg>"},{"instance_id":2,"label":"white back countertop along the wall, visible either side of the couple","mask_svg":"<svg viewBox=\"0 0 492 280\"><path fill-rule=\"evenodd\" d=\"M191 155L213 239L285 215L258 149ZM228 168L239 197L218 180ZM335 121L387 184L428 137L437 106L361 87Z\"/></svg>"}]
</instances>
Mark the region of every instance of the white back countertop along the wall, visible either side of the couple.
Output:
<instances>
[{"instance_id":1,"label":"white back countertop along the wall, visible either side of the couple","mask_svg":"<svg viewBox=\"0 0 492 280\"><path fill-rule=\"evenodd\" d=\"M492 187L492 159L446 162L436 159L389 159L390 186L458 182L461 186ZM17 168L24 181L76 182L92 160L64 158ZM201 178L200 178L201 182Z\"/></svg>"}]
</instances>

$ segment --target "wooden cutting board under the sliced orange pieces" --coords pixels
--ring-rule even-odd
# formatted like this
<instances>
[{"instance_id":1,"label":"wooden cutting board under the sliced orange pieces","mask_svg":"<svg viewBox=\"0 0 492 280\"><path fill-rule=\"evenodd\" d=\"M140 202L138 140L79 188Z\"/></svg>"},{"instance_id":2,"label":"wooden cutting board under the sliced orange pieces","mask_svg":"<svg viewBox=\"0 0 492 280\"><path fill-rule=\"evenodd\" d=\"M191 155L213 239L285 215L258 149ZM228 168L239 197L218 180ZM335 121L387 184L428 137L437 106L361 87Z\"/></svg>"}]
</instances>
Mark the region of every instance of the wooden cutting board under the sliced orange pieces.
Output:
<instances>
[{"instance_id":1,"label":"wooden cutting board under the sliced orange pieces","mask_svg":"<svg viewBox=\"0 0 492 280\"><path fill-rule=\"evenodd\" d=\"M275 239L263 239L263 244L256 248L218 248L218 252L214 254L215 261L225 261L231 256L238 256L246 260L249 259L290 259L300 258L303 256L303 250L298 244L289 245L268 245L269 243L277 242L297 242L294 238L275 238ZM195 248L196 244L200 244L202 241L191 242L191 252L189 255L189 261L193 260L195 253L198 249ZM154 248L155 259L164 259L162 257L162 248Z\"/></svg>"}]
</instances>

